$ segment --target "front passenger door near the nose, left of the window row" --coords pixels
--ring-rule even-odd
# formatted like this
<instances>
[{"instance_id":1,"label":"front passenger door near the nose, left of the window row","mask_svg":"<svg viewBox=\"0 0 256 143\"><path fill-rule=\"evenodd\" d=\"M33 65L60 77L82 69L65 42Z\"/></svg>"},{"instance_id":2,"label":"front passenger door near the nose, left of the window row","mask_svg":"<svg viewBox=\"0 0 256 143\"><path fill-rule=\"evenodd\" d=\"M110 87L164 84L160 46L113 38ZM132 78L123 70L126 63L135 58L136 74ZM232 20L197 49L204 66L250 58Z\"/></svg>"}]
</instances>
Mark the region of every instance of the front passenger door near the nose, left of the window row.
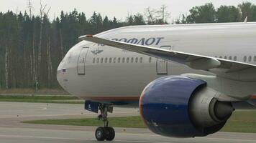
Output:
<instances>
[{"instance_id":1,"label":"front passenger door near the nose, left of the window row","mask_svg":"<svg viewBox=\"0 0 256 143\"><path fill-rule=\"evenodd\" d=\"M84 47L81 49L79 57L78 57L78 74L84 75L86 74L86 55L88 53L88 47Z\"/></svg>"}]
</instances>

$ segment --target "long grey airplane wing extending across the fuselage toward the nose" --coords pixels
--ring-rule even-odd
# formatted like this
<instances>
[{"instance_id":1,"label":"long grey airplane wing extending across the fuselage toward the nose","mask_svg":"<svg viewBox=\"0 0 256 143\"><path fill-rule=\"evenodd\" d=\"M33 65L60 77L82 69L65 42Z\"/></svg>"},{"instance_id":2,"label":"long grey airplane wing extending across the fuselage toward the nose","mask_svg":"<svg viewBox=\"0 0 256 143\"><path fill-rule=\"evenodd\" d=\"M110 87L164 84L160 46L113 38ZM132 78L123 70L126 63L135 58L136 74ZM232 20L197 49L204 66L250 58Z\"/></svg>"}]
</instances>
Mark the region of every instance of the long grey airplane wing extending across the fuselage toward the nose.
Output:
<instances>
[{"instance_id":1,"label":"long grey airplane wing extending across the fuselage toward the nose","mask_svg":"<svg viewBox=\"0 0 256 143\"><path fill-rule=\"evenodd\" d=\"M190 54L181 51L173 51L160 49L150 46L142 46L137 44L129 44L122 41L113 41L103 39L93 35L85 35L79 37L81 40L91 41L97 44L113 46L119 49L134 51L148 56L154 56L159 59L175 61L180 64L185 64L193 69L201 69L208 71L209 69L222 69L224 72L241 71L243 69L255 68L254 64L247 64L239 61L231 61L228 59L213 58L210 56L202 56L198 54Z\"/></svg>"}]
</instances>

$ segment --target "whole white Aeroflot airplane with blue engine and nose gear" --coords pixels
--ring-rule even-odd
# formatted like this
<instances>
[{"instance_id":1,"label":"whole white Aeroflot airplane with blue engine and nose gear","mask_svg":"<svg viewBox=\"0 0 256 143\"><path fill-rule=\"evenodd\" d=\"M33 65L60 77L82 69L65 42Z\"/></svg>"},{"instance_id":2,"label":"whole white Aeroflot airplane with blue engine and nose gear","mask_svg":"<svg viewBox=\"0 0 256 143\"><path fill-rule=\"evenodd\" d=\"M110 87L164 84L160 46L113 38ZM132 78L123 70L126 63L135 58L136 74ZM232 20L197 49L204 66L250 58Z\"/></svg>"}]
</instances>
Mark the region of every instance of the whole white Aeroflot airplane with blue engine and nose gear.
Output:
<instances>
[{"instance_id":1,"label":"whole white Aeroflot airplane with blue engine and nose gear","mask_svg":"<svg viewBox=\"0 0 256 143\"><path fill-rule=\"evenodd\" d=\"M99 141L113 140L108 113L139 107L166 137L218 132L237 103L256 105L256 23L124 26L84 35L60 62L61 87L99 114Z\"/></svg>"}]
</instances>

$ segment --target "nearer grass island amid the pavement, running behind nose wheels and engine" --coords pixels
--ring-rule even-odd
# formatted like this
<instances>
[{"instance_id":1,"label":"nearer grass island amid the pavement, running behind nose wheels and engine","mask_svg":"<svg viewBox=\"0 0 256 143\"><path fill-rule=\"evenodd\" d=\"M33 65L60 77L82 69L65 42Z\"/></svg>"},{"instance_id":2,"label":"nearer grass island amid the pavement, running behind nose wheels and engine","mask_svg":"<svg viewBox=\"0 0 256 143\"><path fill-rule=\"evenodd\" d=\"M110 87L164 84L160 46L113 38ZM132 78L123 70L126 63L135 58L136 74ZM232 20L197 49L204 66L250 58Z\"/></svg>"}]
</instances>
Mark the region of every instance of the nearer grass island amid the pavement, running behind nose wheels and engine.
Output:
<instances>
[{"instance_id":1,"label":"nearer grass island amid the pavement, running behind nose wheels and engine","mask_svg":"<svg viewBox=\"0 0 256 143\"><path fill-rule=\"evenodd\" d=\"M37 121L25 121L30 124L63 124L74 126L102 126L102 122L96 118L88 119L47 119ZM140 117L111 117L109 126L145 128ZM232 114L222 132L252 132L256 133L256 111L237 111Z\"/></svg>"}]
</instances>

